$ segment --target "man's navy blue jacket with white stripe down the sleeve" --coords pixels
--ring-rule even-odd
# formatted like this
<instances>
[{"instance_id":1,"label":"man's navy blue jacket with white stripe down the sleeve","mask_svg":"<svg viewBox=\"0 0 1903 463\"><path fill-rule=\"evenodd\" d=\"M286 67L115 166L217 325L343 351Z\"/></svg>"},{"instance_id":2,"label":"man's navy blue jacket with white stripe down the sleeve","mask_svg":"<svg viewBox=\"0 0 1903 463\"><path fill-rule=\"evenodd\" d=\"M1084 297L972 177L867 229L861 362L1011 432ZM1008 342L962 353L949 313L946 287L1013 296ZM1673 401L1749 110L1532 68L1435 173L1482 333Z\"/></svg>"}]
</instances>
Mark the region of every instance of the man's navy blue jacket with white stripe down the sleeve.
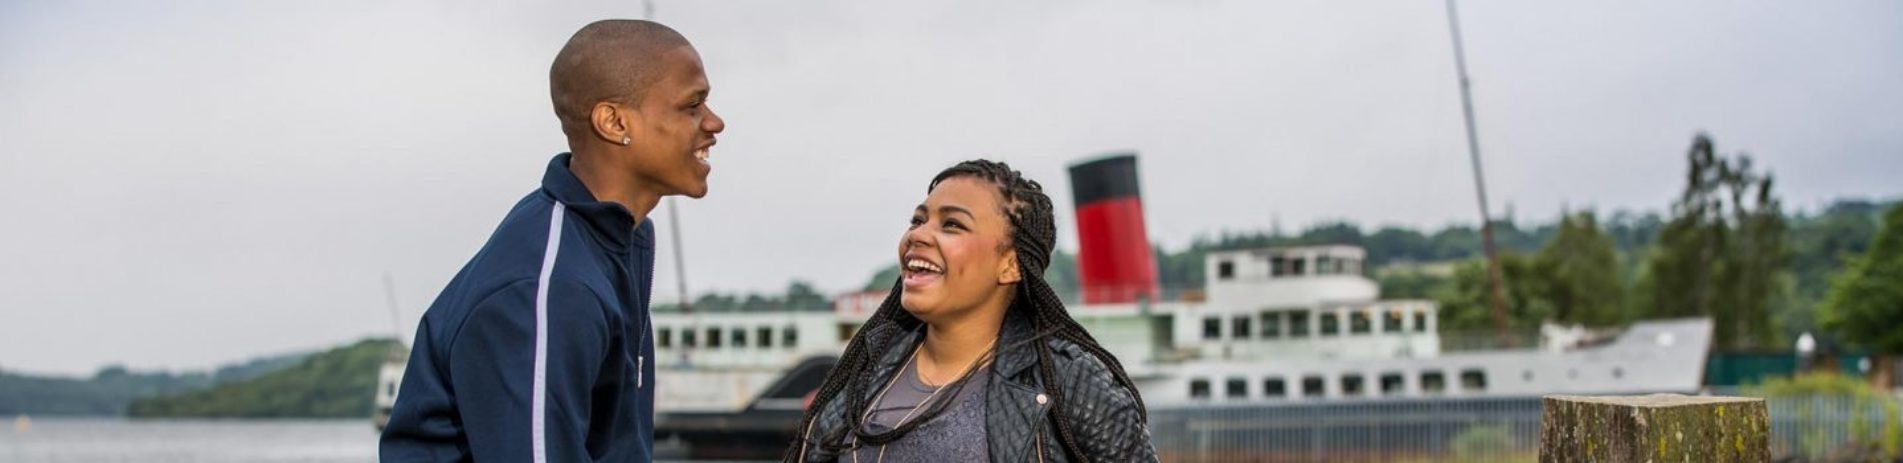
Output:
<instances>
[{"instance_id":1,"label":"man's navy blue jacket with white stripe down the sleeve","mask_svg":"<svg viewBox=\"0 0 1903 463\"><path fill-rule=\"evenodd\" d=\"M436 297L383 461L651 461L655 227L548 162Z\"/></svg>"}]
</instances>

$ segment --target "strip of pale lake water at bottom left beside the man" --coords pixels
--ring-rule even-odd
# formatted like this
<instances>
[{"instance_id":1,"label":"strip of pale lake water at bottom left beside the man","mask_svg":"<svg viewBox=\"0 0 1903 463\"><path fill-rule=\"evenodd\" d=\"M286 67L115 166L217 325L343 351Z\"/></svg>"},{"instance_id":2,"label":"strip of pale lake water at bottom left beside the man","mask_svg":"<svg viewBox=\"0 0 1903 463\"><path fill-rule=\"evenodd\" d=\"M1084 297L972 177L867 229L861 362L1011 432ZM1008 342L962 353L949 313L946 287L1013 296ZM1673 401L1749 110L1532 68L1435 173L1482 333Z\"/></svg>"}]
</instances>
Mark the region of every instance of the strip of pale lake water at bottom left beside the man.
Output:
<instances>
[{"instance_id":1,"label":"strip of pale lake water at bottom left beside the man","mask_svg":"<svg viewBox=\"0 0 1903 463\"><path fill-rule=\"evenodd\" d=\"M40 417L0 429L0 461L362 463L377 461L369 419L175 421Z\"/></svg>"}]
</instances>

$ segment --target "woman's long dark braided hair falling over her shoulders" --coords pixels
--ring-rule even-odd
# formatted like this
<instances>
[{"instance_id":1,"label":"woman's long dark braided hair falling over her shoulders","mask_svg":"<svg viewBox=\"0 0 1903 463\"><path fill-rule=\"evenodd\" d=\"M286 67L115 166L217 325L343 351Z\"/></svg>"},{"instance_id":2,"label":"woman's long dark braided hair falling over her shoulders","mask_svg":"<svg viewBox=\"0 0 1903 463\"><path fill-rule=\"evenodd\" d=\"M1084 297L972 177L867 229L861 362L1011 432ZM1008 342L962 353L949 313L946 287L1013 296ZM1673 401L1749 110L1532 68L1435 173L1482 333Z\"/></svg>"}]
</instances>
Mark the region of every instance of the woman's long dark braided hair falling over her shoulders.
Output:
<instances>
[{"instance_id":1,"label":"woman's long dark braided hair falling over her shoulders","mask_svg":"<svg viewBox=\"0 0 1903 463\"><path fill-rule=\"evenodd\" d=\"M1085 328L1069 316L1064 309L1064 301L1058 299L1056 292L1052 292L1043 278L1045 269L1050 265L1050 252L1056 248L1056 221L1052 217L1050 196L1045 194L1043 185L1033 179L1026 179L1003 162L967 160L940 171L938 177L932 177L932 183L925 189L925 192L929 194L938 189L938 183L953 177L984 179L997 185L1003 194L1005 215L1010 219L1010 229L1007 232L1012 238L1010 246L1018 252L1018 271L1024 276L1024 280L1016 284L1016 295L1007 311L1024 311L1028 314L1026 318L1031 322L1031 332L1035 335L1020 339L1018 343L1030 343L1037 352L1037 373L1043 377L1045 394L1050 394L1052 398L1050 413L1052 421L1056 421L1058 440L1064 450L1073 455L1073 459L1081 461L1081 442L1064 413L1064 391L1056 387L1058 375L1052 362L1052 349L1050 343L1041 341L1043 337L1069 341L1102 360L1104 366L1109 368L1111 375L1115 375L1117 383L1128 389L1130 396L1136 398L1138 415L1148 417L1149 413L1144 412L1144 400L1136 393L1136 385L1130 383L1130 375L1123 372L1123 364L1117 362L1109 351L1098 345L1096 337L1090 337L1090 332L1085 332ZM879 347L891 343L894 335L917 330L921 324L915 316L912 316L912 312L906 312L904 307L900 307L900 293L902 282L894 282L891 293L883 303L879 303L879 311L866 318L866 324L856 335L853 335L853 341L839 356L839 364L826 373L826 381L820 383L818 393L813 396L813 404L807 408L807 417L799 421L801 429L809 429L813 421L818 419L824 404L832 400L847 400L847 413L843 417L845 427L841 431L853 433L856 444L877 446L912 433L912 429L931 421L944 412L948 402L952 402L936 400L921 410L921 413L913 419L887 433L866 433L860 423L858 412L870 406L868 389L875 387L870 372L885 354ZM946 385L952 389L946 391L946 394L955 396L957 389L963 387L965 381L967 377L961 377ZM853 442L845 442L845 434L820 436L818 442L822 442L820 446L835 452L851 452L854 446ZM794 442L786 459L795 461L799 457L799 442Z\"/></svg>"}]
</instances>

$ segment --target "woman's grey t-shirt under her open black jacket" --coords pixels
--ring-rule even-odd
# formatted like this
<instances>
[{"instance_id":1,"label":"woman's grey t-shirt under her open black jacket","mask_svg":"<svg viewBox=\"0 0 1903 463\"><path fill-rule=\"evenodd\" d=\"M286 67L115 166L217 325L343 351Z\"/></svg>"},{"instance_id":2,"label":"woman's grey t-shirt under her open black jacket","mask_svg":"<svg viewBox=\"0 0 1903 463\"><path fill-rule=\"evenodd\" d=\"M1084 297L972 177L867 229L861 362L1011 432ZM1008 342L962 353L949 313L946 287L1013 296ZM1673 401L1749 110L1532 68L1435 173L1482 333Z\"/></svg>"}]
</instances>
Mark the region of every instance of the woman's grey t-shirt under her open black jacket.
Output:
<instances>
[{"instance_id":1,"label":"woman's grey t-shirt under her open black jacket","mask_svg":"<svg viewBox=\"0 0 1903 463\"><path fill-rule=\"evenodd\" d=\"M872 406L872 417L864 427L868 433L885 433L898 427L898 419L913 408L925 413L919 404L936 391L919 381L917 362L906 362L898 370L898 383ZM932 396L932 400L952 400L942 413L906 433L885 446L885 461L990 461L984 440L984 389L990 381L990 364L971 372L971 379L957 391L957 396ZM917 413L906 421L919 419ZM858 448L858 461L879 461L879 446Z\"/></svg>"}]
</instances>

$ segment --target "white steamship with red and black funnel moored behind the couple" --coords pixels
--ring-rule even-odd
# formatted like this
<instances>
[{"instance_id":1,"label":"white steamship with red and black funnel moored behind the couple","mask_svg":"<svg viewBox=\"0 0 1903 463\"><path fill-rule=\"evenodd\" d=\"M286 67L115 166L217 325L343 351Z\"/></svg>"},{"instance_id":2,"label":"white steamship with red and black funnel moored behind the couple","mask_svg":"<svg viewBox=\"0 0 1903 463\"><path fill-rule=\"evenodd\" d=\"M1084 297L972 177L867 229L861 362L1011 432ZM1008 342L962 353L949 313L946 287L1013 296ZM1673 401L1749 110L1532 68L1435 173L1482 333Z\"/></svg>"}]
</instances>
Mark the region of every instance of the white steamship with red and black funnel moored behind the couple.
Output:
<instances>
[{"instance_id":1,"label":"white steamship with red and black funnel moored behind the couple","mask_svg":"<svg viewBox=\"0 0 1903 463\"><path fill-rule=\"evenodd\" d=\"M1536 343L1442 351L1439 307L1382 299L1355 246L1212 252L1203 288L1163 292L1136 156L1073 164L1069 175L1083 290L1068 307L1123 362L1153 415L1701 387L1711 320L1648 320L1612 333L1549 324ZM809 312L655 312L657 440L695 457L778 455L883 299L849 293ZM402 368L384 372L394 381L388 373ZM379 394L386 400L394 394Z\"/></svg>"}]
</instances>

